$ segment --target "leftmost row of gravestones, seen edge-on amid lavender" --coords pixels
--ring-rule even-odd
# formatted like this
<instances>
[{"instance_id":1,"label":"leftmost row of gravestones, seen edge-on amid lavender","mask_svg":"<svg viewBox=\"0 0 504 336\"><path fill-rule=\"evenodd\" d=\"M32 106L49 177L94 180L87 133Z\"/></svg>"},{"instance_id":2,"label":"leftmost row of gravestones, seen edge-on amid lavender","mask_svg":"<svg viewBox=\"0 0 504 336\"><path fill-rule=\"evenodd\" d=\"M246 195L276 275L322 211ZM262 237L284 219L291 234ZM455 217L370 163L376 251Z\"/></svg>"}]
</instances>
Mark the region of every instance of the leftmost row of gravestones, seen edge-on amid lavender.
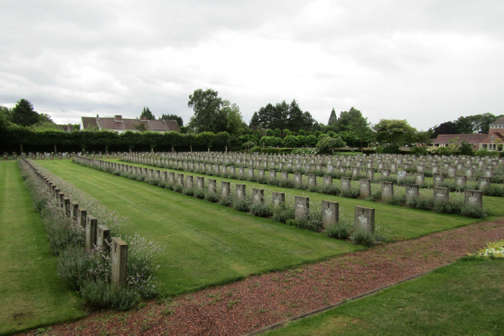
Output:
<instances>
[{"instance_id":1,"label":"leftmost row of gravestones, seen edge-on amid lavender","mask_svg":"<svg viewBox=\"0 0 504 336\"><path fill-rule=\"evenodd\" d=\"M110 252L111 282L114 286L122 286L126 282L128 266L128 244L119 237L110 238L110 230L105 225L98 225L98 220L87 214L87 210L79 207L65 193L40 173L29 161L27 164L35 172L38 182L52 195L64 214L79 223L85 229L85 248L91 250L98 246Z\"/></svg>"}]
</instances>

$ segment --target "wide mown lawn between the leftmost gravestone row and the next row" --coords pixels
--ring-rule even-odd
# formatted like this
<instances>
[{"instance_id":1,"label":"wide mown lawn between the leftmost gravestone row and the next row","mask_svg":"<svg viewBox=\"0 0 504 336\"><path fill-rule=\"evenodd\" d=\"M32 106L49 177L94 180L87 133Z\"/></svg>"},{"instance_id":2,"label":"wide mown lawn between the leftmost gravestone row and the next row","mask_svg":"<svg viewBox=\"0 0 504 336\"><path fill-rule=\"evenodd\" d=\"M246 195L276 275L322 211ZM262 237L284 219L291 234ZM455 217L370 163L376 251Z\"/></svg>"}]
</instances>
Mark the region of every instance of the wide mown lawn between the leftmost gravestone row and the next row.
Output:
<instances>
[{"instance_id":1,"label":"wide mown lawn between the leftmost gravestone row and the next row","mask_svg":"<svg viewBox=\"0 0 504 336\"><path fill-rule=\"evenodd\" d=\"M176 295L361 249L269 219L114 176L70 160L37 161L55 175L129 217L122 234L138 232L166 246L158 284Z\"/></svg>"}]
</instances>

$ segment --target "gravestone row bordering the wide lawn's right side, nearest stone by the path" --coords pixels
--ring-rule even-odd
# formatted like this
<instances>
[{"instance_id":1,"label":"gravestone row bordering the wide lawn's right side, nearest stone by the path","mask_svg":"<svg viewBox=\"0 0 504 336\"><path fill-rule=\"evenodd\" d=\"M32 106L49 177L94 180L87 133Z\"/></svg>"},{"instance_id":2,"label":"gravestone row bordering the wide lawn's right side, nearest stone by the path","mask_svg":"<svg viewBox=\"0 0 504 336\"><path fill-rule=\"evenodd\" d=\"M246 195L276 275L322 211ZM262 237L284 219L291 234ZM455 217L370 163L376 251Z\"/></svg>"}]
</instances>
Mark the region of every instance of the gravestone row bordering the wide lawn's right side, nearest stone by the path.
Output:
<instances>
[{"instance_id":1,"label":"gravestone row bordering the wide lawn's right side, nearest stone by the path","mask_svg":"<svg viewBox=\"0 0 504 336\"><path fill-rule=\"evenodd\" d=\"M117 164L108 161L89 159L84 157L77 157L77 159L86 164L110 167L114 169L119 169L124 172L139 173L144 174L146 177L161 178L168 182L177 183L178 185L185 186L187 188L199 188L203 189L205 186L205 178L202 176L196 177L196 183L194 181L194 176L185 175L181 173L173 173L160 171L157 169L142 168L124 164ZM246 185L236 184L235 185L235 198L241 199L246 196ZM208 191L215 193L217 191L217 180L208 179ZM221 198L225 199L231 195L231 182L221 181ZM264 189L253 188L252 189L252 204L264 203ZM273 206L281 206L285 203L285 193L284 192L272 192L272 204ZM296 219L305 218L308 216L310 206L309 197L304 196L294 196L294 216ZM322 225L323 227L328 227L335 225L339 221L339 203L323 200L322 201ZM366 207L355 207L355 229L363 230L365 232L374 233L374 209Z\"/></svg>"}]
</instances>

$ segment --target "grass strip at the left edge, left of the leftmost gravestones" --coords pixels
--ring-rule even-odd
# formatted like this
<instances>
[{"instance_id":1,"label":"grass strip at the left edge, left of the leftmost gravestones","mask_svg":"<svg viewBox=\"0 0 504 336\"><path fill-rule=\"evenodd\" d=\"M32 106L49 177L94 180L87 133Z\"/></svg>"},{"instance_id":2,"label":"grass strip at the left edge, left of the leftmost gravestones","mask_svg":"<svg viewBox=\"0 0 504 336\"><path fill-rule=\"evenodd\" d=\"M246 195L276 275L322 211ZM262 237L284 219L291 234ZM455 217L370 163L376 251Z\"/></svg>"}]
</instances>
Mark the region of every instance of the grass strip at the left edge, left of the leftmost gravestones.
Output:
<instances>
[{"instance_id":1,"label":"grass strip at the left edge, left of the leftmost gravestones","mask_svg":"<svg viewBox=\"0 0 504 336\"><path fill-rule=\"evenodd\" d=\"M16 161L0 162L0 334L85 316L62 286Z\"/></svg>"}]
</instances>

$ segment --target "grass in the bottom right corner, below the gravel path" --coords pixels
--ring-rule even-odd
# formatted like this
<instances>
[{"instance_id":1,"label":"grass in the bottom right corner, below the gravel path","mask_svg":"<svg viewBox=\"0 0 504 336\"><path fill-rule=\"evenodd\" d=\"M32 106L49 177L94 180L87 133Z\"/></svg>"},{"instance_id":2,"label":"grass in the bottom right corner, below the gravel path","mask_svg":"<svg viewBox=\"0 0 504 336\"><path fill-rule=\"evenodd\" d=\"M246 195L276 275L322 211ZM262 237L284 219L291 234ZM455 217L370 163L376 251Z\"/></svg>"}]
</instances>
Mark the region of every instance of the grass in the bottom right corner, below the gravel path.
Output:
<instances>
[{"instance_id":1,"label":"grass in the bottom right corner, below the gravel path","mask_svg":"<svg viewBox=\"0 0 504 336\"><path fill-rule=\"evenodd\" d=\"M460 260L265 334L502 335L504 260Z\"/></svg>"}]
</instances>

